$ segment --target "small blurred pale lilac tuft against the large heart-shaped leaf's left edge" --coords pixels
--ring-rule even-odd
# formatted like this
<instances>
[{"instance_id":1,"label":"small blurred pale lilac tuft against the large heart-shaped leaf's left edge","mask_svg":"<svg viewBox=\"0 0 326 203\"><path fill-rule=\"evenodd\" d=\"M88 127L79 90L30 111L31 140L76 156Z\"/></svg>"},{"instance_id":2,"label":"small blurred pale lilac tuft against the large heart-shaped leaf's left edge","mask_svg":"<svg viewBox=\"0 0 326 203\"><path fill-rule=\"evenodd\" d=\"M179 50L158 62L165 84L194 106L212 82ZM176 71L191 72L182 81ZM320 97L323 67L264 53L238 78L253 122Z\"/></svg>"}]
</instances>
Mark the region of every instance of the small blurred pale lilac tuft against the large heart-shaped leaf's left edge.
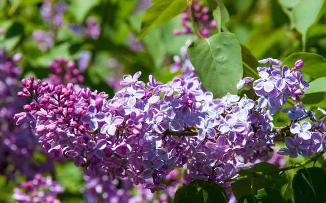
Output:
<instances>
[{"instance_id":1,"label":"small blurred pale lilac tuft against the large heart-shaped leaf's left edge","mask_svg":"<svg viewBox=\"0 0 326 203\"><path fill-rule=\"evenodd\" d=\"M191 43L191 40L187 40L185 45L180 48L181 58L177 55L173 56L174 63L170 66L171 73L176 73L180 70L183 78L197 77L195 67L187 55L187 48Z\"/></svg>"}]
</instances>

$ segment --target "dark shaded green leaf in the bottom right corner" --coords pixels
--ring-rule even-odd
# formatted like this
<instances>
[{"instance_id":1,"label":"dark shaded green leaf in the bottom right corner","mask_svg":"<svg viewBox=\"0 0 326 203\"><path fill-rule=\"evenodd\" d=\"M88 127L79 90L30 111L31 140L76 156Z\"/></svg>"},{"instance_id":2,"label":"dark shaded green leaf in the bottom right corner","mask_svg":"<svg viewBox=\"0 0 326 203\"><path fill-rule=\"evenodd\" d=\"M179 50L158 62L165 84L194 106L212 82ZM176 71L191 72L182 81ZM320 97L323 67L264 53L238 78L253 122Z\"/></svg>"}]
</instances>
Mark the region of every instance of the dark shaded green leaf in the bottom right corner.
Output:
<instances>
[{"instance_id":1,"label":"dark shaded green leaf in the bottom right corner","mask_svg":"<svg viewBox=\"0 0 326 203\"><path fill-rule=\"evenodd\" d=\"M326 171L318 167L303 168L296 172L292 187L295 203L326 202Z\"/></svg>"}]
</instances>

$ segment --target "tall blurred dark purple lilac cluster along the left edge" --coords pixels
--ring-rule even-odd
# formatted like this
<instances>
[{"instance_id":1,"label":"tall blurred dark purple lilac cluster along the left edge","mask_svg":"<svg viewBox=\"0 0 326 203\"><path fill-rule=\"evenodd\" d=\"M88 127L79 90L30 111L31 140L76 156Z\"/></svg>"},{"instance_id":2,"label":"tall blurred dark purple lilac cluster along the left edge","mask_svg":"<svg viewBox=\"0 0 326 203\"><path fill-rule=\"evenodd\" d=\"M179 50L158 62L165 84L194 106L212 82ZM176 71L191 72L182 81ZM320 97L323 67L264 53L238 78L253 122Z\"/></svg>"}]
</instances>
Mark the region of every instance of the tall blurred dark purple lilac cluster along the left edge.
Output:
<instances>
[{"instance_id":1,"label":"tall blurred dark purple lilac cluster along the left edge","mask_svg":"<svg viewBox=\"0 0 326 203\"><path fill-rule=\"evenodd\" d=\"M49 159L39 164L33 161L34 154L41 153L37 149L38 140L28 123L16 126L13 120L14 114L22 111L27 102L16 94L20 90L21 74L17 61L21 58L21 54L9 56L5 50L0 51L0 174L11 180L17 173L30 179L53 167Z\"/></svg>"}]
</instances>

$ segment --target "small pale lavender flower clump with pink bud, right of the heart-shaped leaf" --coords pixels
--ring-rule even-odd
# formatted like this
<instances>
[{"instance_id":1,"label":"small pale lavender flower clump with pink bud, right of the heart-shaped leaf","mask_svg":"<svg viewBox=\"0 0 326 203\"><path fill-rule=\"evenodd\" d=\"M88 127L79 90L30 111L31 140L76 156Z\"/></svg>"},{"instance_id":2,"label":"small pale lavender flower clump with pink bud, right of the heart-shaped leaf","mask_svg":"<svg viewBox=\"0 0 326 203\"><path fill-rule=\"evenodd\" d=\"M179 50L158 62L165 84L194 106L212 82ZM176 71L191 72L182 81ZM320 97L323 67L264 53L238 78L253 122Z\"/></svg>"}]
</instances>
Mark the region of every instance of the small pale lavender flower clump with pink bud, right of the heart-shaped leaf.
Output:
<instances>
[{"instance_id":1,"label":"small pale lavender flower clump with pink bud, right of the heart-shaped leaf","mask_svg":"<svg viewBox=\"0 0 326 203\"><path fill-rule=\"evenodd\" d=\"M297 60L291 69L286 65L281 67L281 61L273 58L266 58L259 62L268 64L267 67L257 67L260 78L253 82L253 90L259 97L257 100L259 108L267 107L271 114L274 114L282 109L288 98L294 101L300 100L299 96L303 95L304 90L309 87L309 84L302 79L302 73L296 71L302 68L303 60ZM249 87L248 83L252 81L253 78L243 78L237 88Z\"/></svg>"}]
</instances>

